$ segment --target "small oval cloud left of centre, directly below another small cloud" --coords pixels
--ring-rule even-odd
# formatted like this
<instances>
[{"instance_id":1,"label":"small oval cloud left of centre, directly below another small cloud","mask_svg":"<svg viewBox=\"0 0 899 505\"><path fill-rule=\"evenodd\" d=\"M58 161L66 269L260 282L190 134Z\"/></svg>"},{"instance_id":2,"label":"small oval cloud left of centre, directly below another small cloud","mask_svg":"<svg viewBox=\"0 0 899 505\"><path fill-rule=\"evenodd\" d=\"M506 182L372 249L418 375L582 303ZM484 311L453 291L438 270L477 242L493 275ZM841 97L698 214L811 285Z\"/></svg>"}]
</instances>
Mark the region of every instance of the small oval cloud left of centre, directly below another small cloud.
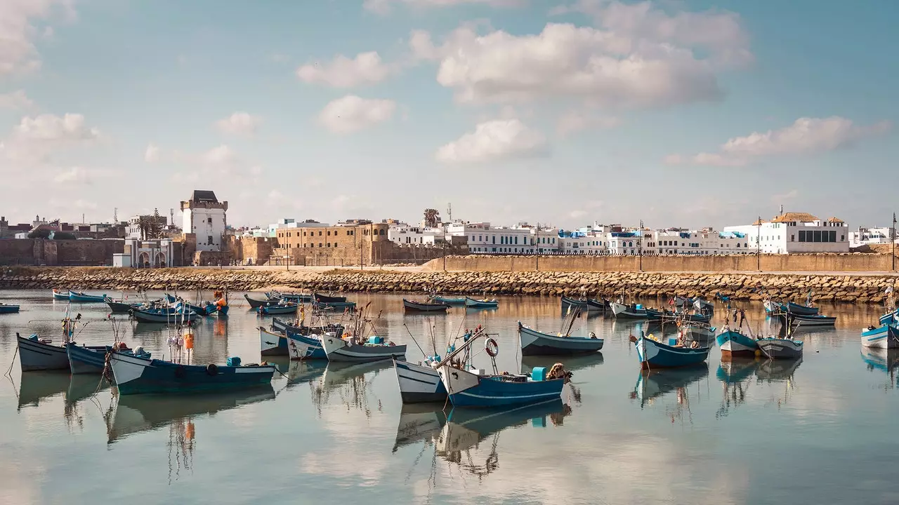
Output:
<instances>
[{"instance_id":1,"label":"small oval cloud left of centre, directly below another small cloud","mask_svg":"<svg viewBox=\"0 0 899 505\"><path fill-rule=\"evenodd\" d=\"M338 55L330 63L316 61L297 69L297 76L304 83L326 84L335 88L379 83L389 74L390 69L381 62L375 51L360 53L352 59Z\"/></svg>"}]
</instances>

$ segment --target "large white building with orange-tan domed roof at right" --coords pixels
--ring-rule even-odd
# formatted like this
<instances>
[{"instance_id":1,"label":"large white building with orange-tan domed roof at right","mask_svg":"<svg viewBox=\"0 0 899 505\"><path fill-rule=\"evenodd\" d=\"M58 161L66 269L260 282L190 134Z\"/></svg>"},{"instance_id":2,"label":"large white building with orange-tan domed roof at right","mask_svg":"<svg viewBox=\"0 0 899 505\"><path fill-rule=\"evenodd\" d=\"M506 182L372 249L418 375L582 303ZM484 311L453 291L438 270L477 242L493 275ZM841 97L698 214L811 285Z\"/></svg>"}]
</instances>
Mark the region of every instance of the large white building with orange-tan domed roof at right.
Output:
<instances>
[{"instance_id":1,"label":"large white building with orange-tan domed roof at right","mask_svg":"<svg viewBox=\"0 0 899 505\"><path fill-rule=\"evenodd\" d=\"M787 212L770 221L752 225L725 226L725 232L739 232L748 238L754 253L849 253L849 228L837 217L824 220L805 212Z\"/></svg>"}]
</instances>

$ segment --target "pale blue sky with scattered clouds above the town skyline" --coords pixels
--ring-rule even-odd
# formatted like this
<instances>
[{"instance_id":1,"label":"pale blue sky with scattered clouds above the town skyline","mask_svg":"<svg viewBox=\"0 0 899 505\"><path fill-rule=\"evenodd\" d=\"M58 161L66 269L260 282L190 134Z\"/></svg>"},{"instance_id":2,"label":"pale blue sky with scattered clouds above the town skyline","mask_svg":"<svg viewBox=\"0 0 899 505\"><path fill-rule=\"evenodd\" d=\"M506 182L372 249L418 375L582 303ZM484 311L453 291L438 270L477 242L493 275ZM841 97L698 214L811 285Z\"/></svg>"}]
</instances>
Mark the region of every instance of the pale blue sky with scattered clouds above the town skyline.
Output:
<instances>
[{"instance_id":1,"label":"pale blue sky with scattered clouds above the town skyline","mask_svg":"<svg viewBox=\"0 0 899 505\"><path fill-rule=\"evenodd\" d=\"M896 22L875 0L2 0L0 214L178 219L200 189L233 226L449 204L889 226Z\"/></svg>"}]
</instances>

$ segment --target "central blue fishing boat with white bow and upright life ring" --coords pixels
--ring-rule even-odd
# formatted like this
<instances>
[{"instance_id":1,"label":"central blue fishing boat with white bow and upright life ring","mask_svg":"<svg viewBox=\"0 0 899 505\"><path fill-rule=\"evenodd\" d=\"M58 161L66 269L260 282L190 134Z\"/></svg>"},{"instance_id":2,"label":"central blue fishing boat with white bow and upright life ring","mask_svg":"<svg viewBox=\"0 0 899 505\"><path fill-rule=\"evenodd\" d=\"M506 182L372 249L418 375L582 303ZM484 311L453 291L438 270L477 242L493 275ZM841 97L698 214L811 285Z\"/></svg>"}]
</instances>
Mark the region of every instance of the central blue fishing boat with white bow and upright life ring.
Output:
<instances>
[{"instance_id":1,"label":"central blue fishing boat with white bow and upright life ring","mask_svg":"<svg viewBox=\"0 0 899 505\"><path fill-rule=\"evenodd\" d=\"M548 373L546 368L538 367L531 369L530 374L499 374L496 372L495 361L499 345L492 338L485 340L485 351L493 360L494 374L486 374L479 369L462 370L450 366L453 358L468 352L471 345L482 336L485 337L486 333L478 327L465 343L437 364L441 382L454 406L505 407L561 399L562 388L571 377L561 363L553 365Z\"/></svg>"}]
</instances>

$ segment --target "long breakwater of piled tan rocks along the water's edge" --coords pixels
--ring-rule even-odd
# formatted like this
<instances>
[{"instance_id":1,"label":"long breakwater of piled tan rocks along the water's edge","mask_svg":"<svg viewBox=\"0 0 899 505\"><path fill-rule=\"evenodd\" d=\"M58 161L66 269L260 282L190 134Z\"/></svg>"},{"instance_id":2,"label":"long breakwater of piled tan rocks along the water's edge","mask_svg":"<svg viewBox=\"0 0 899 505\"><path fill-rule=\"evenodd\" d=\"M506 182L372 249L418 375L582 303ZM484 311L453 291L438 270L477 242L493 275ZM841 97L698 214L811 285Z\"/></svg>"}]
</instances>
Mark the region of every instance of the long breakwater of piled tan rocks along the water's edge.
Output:
<instances>
[{"instance_id":1,"label":"long breakwater of piled tan rocks along the water's edge","mask_svg":"<svg viewBox=\"0 0 899 505\"><path fill-rule=\"evenodd\" d=\"M422 293L617 297L714 297L759 300L761 292L779 299L814 299L850 303L882 303L887 286L899 289L891 276L805 275L764 273L660 272L503 272L393 270L126 270L112 268L5 268L0 288L86 290L228 288L236 291L279 288L335 292Z\"/></svg>"}]
</instances>

